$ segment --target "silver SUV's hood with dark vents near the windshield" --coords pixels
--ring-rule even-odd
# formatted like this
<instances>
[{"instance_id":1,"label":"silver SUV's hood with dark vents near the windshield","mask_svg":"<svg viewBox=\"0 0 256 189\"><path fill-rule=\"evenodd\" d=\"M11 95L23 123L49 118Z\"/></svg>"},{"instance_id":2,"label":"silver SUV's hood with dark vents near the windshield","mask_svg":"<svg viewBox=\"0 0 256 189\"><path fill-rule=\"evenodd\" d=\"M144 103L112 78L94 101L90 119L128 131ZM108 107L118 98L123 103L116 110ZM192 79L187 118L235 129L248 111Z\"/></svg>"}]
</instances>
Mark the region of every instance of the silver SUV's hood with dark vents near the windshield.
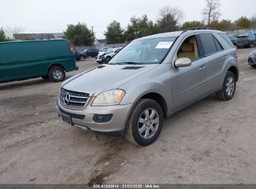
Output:
<instances>
[{"instance_id":1,"label":"silver SUV's hood with dark vents near the windshield","mask_svg":"<svg viewBox=\"0 0 256 189\"><path fill-rule=\"evenodd\" d=\"M159 64L152 65L102 65L69 78L62 88L69 91L88 93L97 96L107 90L120 88L133 78L151 70Z\"/></svg>"}]
</instances>

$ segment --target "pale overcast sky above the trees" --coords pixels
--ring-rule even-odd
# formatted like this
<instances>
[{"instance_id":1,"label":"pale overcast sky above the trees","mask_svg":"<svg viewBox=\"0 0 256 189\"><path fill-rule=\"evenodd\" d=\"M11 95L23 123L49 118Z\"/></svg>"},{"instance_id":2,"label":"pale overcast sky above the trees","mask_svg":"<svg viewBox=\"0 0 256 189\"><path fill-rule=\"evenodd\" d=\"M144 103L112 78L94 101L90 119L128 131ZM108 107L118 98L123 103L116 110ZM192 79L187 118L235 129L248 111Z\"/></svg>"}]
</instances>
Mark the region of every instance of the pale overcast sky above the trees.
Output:
<instances>
[{"instance_id":1,"label":"pale overcast sky above the trees","mask_svg":"<svg viewBox=\"0 0 256 189\"><path fill-rule=\"evenodd\" d=\"M255 0L220 0L220 19L235 21L256 14ZM185 12L184 21L202 20L204 0L1 0L0 27L22 26L25 32L63 32L67 24L85 22L95 26L97 39L104 38L113 20L126 27L131 16L147 14L156 21L161 7L176 6Z\"/></svg>"}]
</instances>

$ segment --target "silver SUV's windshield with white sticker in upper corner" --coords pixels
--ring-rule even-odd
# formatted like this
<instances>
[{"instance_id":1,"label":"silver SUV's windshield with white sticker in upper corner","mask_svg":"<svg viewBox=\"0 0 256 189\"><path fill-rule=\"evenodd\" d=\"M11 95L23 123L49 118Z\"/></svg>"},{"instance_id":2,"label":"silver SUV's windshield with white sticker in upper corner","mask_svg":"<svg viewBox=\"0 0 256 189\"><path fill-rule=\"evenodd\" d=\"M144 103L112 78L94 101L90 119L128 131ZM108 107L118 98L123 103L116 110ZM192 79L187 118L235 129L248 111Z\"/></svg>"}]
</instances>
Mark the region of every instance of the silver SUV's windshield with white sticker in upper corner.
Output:
<instances>
[{"instance_id":1,"label":"silver SUV's windshield with white sticker in upper corner","mask_svg":"<svg viewBox=\"0 0 256 189\"><path fill-rule=\"evenodd\" d=\"M161 63L176 37L135 40L126 45L110 64L156 64Z\"/></svg>"}]
</instances>

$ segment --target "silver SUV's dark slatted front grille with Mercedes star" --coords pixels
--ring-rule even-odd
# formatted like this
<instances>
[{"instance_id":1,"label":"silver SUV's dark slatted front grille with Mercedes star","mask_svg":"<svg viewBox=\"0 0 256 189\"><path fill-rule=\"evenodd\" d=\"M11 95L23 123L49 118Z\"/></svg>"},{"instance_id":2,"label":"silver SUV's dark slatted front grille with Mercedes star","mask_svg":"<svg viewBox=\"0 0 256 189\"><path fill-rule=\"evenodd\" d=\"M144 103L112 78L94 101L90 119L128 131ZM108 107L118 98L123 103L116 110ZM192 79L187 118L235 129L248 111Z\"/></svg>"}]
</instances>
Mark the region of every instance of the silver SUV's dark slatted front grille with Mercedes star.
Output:
<instances>
[{"instance_id":1,"label":"silver SUV's dark slatted front grille with Mercedes star","mask_svg":"<svg viewBox=\"0 0 256 189\"><path fill-rule=\"evenodd\" d=\"M64 100L65 100L64 98L67 93L69 93L69 96L70 96L69 103L67 103L67 101L65 101L64 103ZM68 91L68 90L64 90L63 88L60 90L60 101L62 101L62 103L64 103L66 106L69 106L72 108L82 108L85 105L89 96L90 94L88 93Z\"/></svg>"}]
</instances>

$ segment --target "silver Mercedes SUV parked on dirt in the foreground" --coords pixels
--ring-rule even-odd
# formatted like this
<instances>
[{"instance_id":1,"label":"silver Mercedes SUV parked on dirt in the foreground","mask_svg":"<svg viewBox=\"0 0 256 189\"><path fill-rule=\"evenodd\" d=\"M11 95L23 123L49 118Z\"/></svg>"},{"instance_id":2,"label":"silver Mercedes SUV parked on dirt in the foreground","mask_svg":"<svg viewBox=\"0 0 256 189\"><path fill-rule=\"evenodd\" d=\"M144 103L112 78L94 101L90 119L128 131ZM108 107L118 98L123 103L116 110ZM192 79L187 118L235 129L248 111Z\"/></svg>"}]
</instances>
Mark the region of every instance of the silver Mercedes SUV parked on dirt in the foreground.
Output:
<instances>
[{"instance_id":1,"label":"silver Mercedes SUV parked on dirt in the foreground","mask_svg":"<svg viewBox=\"0 0 256 189\"><path fill-rule=\"evenodd\" d=\"M223 32L156 34L66 80L57 111L71 126L144 146L158 138L163 118L211 94L231 99L238 79L237 51Z\"/></svg>"}]
</instances>

